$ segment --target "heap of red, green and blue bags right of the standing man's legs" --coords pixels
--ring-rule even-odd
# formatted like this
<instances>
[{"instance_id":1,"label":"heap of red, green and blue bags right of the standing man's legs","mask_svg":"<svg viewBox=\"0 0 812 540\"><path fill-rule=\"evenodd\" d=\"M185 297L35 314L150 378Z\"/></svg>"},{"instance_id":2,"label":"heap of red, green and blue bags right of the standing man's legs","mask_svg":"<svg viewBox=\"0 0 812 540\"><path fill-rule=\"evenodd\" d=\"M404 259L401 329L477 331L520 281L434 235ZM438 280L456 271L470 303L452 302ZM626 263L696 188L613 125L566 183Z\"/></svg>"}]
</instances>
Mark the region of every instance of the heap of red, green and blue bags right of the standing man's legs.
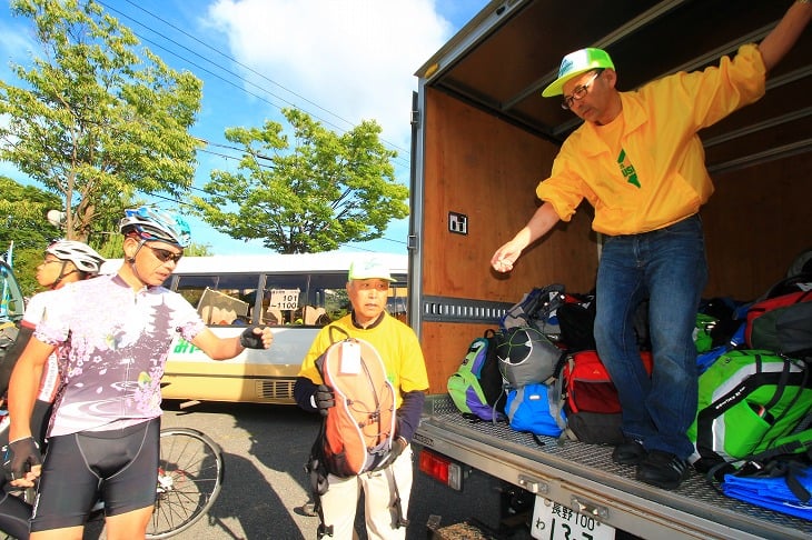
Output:
<instances>
[{"instance_id":1,"label":"heap of red, green and blue bags right of the standing man's legs","mask_svg":"<svg viewBox=\"0 0 812 540\"><path fill-rule=\"evenodd\" d=\"M812 273L710 324L730 339L697 341L694 468L729 497L812 519Z\"/></svg>"}]
</instances>

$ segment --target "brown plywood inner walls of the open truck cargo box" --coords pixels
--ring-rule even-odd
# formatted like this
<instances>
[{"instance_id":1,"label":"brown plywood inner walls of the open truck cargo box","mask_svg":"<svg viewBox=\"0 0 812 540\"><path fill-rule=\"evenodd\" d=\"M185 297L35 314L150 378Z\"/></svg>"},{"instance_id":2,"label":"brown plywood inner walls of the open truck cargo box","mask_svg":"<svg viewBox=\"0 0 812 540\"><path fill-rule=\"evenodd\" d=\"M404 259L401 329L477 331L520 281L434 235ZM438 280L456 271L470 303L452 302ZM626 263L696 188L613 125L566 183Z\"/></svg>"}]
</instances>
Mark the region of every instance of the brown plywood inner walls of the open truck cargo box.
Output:
<instances>
[{"instance_id":1,"label":"brown plywood inner walls of the open truck cargo box","mask_svg":"<svg viewBox=\"0 0 812 540\"><path fill-rule=\"evenodd\" d=\"M432 88L424 113L424 294L515 302L553 282L588 291L597 268L588 204L525 252L509 276L496 274L488 263L536 209L535 186L558 147ZM754 299L812 246L811 159L803 153L714 174L716 192L702 212L710 264L705 298ZM448 230L449 212L467 217L467 234ZM433 393L445 391L471 340L493 326L423 322Z\"/></svg>"}]
</instances>

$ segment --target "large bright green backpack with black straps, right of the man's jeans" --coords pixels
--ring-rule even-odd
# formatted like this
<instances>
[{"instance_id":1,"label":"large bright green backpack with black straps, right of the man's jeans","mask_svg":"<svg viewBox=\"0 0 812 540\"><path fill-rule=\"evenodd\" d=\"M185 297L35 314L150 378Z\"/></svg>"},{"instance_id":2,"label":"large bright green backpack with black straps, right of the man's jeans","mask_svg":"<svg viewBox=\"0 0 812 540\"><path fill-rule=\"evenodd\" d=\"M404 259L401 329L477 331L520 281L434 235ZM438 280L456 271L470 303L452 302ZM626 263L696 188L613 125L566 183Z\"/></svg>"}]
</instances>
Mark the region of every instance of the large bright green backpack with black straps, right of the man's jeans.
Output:
<instances>
[{"instance_id":1,"label":"large bright green backpack with black straps, right of the man's jeans","mask_svg":"<svg viewBox=\"0 0 812 540\"><path fill-rule=\"evenodd\" d=\"M697 470L775 450L800 452L812 444L812 373L800 360L763 350L733 350L700 377L695 442Z\"/></svg>"}]
</instances>

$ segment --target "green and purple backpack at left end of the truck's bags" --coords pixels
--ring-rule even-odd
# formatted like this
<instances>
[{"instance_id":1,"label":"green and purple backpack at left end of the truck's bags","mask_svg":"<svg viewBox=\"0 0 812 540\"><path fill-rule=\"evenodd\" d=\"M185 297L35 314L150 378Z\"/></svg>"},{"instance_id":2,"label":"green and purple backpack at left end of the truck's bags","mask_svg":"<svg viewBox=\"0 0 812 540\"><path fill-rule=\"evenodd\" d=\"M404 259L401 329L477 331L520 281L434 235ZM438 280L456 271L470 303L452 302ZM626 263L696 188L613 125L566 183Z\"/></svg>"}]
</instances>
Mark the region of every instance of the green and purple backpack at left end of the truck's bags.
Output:
<instances>
[{"instance_id":1,"label":"green and purple backpack at left end of the truck's bags","mask_svg":"<svg viewBox=\"0 0 812 540\"><path fill-rule=\"evenodd\" d=\"M504 420L505 391L496 358L493 330L486 330L468 347L463 363L446 384L454 404L464 414L487 421Z\"/></svg>"}]
</instances>

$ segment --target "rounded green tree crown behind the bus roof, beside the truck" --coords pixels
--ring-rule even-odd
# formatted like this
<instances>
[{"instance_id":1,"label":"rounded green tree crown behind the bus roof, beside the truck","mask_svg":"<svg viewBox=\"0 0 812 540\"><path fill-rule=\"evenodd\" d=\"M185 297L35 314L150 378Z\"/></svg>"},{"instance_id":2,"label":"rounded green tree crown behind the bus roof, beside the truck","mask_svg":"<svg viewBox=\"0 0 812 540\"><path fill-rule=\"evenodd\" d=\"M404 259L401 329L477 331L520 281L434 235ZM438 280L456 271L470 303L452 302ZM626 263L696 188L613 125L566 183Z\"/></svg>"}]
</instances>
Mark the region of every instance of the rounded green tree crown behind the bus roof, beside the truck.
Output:
<instances>
[{"instance_id":1,"label":"rounded green tree crown behind the bus roof, beside the truck","mask_svg":"<svg viewBox=\"0 0 812 540\"><path fill-rule=\"evenodd\" d=\"M210 194L192 197L204 220L238 240L305 253L380 238L390 220L408 216L408 188L392 166L397 153L383 146L376 122L339 136L303 111L283 113L293 141L274 121L226 130L245 150L237 173L212 171Z\"/></svg>"}]
</instances>

